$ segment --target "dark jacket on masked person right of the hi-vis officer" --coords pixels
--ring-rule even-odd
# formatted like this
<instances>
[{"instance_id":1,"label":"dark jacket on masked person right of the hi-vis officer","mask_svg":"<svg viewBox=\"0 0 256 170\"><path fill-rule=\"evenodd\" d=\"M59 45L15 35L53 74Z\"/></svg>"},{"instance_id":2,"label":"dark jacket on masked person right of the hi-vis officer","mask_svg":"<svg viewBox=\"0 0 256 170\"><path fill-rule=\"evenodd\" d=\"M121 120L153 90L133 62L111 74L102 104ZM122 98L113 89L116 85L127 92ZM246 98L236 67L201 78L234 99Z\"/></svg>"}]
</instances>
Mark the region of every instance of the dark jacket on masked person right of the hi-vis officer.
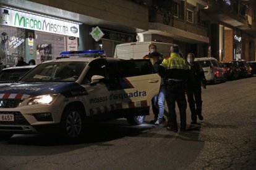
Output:
<instances>
[{"instance_id":1,"label":"dark jacket on masked person right of the hi-vis officer","mask_svg":"<svg viewBox=\"0 0 256 170\"><path fill-rule=\"evenodd\" d=\"M201 83L206 83L205 74L199 63L194 62L194 65L190 65L187 87L188 89L201 87Z\"/></svg>"}]
</instances>

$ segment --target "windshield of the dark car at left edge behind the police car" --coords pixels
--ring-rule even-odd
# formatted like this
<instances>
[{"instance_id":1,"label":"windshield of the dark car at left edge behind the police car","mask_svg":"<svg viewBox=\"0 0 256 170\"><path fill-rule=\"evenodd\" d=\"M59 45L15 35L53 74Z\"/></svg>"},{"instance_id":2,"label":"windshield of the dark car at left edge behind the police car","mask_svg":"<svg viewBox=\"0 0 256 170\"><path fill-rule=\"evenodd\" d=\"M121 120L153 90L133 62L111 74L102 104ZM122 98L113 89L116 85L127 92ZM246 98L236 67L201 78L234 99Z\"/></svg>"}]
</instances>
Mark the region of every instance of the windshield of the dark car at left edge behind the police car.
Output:
<instances>
[{"instance_id":1,"label":"windshield of the dark car at left edge behind the police car","mask_svg":"<svg viewBox=\"0 0 256 170\"><path fill-rule=\"evenodd\" d=\"M0 83L12 83L20 79L32 68L14 68L2 70L0 74Z\"/></svg>"}]
</instances>

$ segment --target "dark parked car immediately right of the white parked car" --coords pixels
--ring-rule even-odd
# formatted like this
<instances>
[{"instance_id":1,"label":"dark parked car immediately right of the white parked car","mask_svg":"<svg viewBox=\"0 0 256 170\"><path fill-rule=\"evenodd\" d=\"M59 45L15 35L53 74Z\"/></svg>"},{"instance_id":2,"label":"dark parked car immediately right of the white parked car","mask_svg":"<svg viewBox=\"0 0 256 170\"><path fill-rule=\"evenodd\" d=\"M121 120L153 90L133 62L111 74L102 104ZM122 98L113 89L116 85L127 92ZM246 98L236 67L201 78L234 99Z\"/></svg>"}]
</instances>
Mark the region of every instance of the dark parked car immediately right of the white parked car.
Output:
<instances>
[{"instance_id":1,"label":"dark parked car immediately right of the white parked car","mask_svg":"<svg viewBox=\"0 0 256 170\"><path fill-rule=\"evenodd\" d=\"M227 79L231 80L239 78L241 70L236 67L234 62L222 63L222 65Z\"/></svg>"}]
</instances>

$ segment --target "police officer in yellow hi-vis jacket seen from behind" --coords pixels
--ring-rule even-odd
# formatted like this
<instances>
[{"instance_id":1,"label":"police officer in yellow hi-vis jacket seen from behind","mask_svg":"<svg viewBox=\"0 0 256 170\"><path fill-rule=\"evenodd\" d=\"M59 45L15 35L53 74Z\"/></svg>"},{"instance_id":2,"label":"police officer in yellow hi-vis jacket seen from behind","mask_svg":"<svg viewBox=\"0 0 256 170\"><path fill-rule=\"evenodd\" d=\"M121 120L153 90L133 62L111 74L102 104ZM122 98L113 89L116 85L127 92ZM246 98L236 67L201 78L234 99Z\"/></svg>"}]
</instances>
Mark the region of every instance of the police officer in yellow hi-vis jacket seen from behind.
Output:
<instances>
[{"instance_id":1,"label":"police officer in yellow hi-vis jacket seen from behind","mask_svg":"<svg viewBox=\"0 0 256 170\"><path fill-rule=\"evenodd\" d=\"M164 59L158 71L165 76L164 86L166 88L166 103L169 109L168 131L177 132L177 119L175 103L179 107L181 118L181 131L186 131L186 108L185 85L188 77L189 65L179 56L179 46L173 44L170 48L171 57Z\"/></svg>"}]
</instances>

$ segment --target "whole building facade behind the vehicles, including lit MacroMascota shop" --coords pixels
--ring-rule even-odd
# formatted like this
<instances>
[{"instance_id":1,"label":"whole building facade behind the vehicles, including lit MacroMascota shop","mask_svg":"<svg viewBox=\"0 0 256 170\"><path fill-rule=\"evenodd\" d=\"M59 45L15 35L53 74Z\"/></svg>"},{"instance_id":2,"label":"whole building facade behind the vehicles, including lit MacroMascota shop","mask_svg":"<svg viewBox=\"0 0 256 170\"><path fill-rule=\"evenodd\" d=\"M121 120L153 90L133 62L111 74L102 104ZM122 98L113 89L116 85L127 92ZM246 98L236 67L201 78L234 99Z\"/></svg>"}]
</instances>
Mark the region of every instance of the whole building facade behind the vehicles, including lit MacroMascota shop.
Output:
<instances>
[{"instance_id":1,"label":"whole building facade behind the vehicles, including lit MacroMascota shop","mask_svg":"<svg viewBox=\"0 0 256 170\"><path fill-rule=\"evenodd\" d=\"M220 61L255 60L255 1L245 0L0 0L1 62L18 55L36 63L61 51L158 41L182 54ZM94 39L95 33L101 37ZM6 39L5 39L6 37Z\"/></svg>"}]
</instances>

